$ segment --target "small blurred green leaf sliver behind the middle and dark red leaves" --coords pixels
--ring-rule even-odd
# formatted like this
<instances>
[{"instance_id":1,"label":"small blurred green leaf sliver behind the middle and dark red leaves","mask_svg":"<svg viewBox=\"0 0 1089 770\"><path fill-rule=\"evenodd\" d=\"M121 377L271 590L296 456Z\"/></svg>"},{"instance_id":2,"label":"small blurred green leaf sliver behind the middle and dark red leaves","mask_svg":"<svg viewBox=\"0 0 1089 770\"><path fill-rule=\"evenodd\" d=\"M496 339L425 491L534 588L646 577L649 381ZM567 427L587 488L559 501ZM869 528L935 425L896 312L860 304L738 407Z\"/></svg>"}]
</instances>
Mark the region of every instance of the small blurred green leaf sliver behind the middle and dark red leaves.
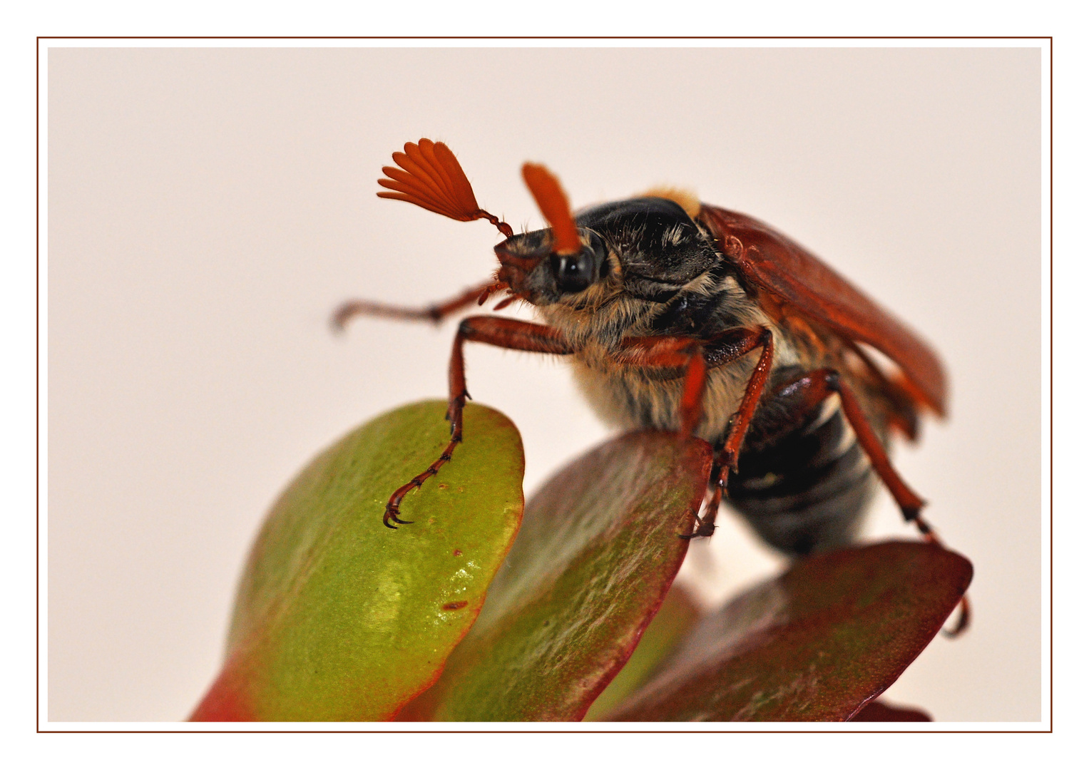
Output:
<instances>
[{"instance_id":1,"label":"small blurred green leaf sliver behind the middle and dark red leaves","mask_svg":"<svg viewBox=\"0 0 1089 770\"><path fill-rule=\"evenodd\" d=\"M607 713L624 702L632 693L644 685L680 645L693 626L699 621L700 610L692 594L676 583L665 595L661 609L647 626L638 646L609 683L590 710L583 718L585 722L599 721Z\"/></svg>"}]
</instances>

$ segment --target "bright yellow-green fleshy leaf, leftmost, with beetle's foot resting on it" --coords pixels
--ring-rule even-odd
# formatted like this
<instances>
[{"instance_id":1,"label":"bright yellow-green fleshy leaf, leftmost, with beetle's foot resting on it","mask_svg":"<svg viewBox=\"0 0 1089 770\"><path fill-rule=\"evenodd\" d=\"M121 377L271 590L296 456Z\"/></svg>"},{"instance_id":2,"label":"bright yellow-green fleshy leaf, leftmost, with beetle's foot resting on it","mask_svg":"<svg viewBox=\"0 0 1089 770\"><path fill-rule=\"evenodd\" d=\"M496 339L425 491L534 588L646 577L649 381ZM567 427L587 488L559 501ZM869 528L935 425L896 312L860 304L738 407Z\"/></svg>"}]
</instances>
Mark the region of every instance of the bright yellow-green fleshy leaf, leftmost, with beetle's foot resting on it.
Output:
<instances>
[{"instance_id":1,"label":"bright yellow-green fleshy leaf, leftmost, with beetle's foot resting on it","mask_svg":"<svg viewBox=\"0 0 1089 770\"><path fill-rule=\"evenodd\" d=\"M473 625L522 518L517 429L470 404L454 460L390 493L449 441L444 402L390 412L318 455L246 564L227 663L191 719L383 720L436 681Z\"/></svg>"}]
</instances>

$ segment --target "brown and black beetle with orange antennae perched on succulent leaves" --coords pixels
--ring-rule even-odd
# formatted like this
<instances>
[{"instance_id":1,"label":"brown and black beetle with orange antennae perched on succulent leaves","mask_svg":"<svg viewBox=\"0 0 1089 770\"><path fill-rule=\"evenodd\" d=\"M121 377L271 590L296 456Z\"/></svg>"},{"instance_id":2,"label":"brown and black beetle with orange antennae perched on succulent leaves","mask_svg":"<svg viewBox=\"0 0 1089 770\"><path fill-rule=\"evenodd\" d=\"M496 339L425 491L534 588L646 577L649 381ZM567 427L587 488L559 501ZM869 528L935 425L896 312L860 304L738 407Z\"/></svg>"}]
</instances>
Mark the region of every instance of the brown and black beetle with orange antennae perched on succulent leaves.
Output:
<instances>
[{"instance_id":1,"label":"brown and black beetle with orange antennae perched on succulent leaves","mask_svg":"<svg viewBox=\"0 0 1089 770\"><path fill-rule=\"evenodd\" d=\"M450 443L392 493L388 527L409 523L401 518L404 497L462 442L464 346L484 342L567 357L591 404L619 427L709 441L708 498L683 537L710 536L725 497L784 553L833 549L854 537L879 479L904 518L937 542L920 516L922 499L886 448L893 435L915 440L921 414L944 416L942 364L819 258L752 217L674 190L573 215L556 178L535 163L523 167L523 179L549 227L515 234L479 207L444 144L408 143L393 160L396 167L382 169L379 197L491 222L504 236L494 247L499 268L428 308L345 303L334 326L356 315L438 322L499 292L505 297L497 309L527 302L543 322L461 321L450 360Z\"/></svg>"}]
</instances>

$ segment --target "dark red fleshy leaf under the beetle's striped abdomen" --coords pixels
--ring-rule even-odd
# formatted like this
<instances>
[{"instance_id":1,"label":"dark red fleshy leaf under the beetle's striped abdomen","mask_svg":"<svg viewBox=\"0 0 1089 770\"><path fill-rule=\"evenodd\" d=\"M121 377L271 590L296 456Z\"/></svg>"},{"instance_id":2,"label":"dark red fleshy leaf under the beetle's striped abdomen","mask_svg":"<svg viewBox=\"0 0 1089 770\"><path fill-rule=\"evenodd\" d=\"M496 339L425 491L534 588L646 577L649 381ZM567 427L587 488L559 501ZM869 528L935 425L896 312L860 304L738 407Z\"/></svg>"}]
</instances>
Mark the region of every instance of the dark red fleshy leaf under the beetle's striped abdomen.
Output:
<instances>
[{"instance_id":1,"label":"dark red fleshy leaf under the beetle's striped abdomen","mask_svg":"<svg viewBox=\"0 0 1089 770\"><path fill-rule=\"evenodd\" d=\"M930 643L971 580L939 546L797 562L703 620L616 721L843 721Z\"/></svg>"}]
</instances>

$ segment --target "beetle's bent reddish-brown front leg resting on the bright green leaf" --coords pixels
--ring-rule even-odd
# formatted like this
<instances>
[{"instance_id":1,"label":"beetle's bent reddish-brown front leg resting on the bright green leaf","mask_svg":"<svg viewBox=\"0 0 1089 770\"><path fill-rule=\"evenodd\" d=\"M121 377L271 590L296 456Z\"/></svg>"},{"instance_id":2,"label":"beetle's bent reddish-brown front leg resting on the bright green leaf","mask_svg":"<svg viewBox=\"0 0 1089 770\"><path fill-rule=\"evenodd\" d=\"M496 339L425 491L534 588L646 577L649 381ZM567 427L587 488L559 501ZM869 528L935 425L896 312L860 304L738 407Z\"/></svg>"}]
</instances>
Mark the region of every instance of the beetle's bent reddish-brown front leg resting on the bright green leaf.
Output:
<instances>
[{"instance_id":1,"label":"beetle's bent reddish-brown front leg resting on the bright green leaf","mask_svg":"<svg viewBox=\"0 0 1089 770\"><path fill-rule=\"evenodd\" d=\"M529 353L551 353L566 355L573 353L571 346L555 329L540 323L527 323L513 318L495 316L470 316L457 327L454 337L454 350L450 356L450 405L446 407L446 419L450 420L450 443L442 454L427 466L424 473L404 485L386 503L382 523L391 529L397 524L411 524L399 516L401 501L414 489L419 489L424 481L439 473L439 468L453 459L454 449L462 442L462 412L465 401L469 398L465 388L465 353L466 342L485 342L497 347ZM392 522L392 524L391 524Z\"/></svg>"}]
</instances>

